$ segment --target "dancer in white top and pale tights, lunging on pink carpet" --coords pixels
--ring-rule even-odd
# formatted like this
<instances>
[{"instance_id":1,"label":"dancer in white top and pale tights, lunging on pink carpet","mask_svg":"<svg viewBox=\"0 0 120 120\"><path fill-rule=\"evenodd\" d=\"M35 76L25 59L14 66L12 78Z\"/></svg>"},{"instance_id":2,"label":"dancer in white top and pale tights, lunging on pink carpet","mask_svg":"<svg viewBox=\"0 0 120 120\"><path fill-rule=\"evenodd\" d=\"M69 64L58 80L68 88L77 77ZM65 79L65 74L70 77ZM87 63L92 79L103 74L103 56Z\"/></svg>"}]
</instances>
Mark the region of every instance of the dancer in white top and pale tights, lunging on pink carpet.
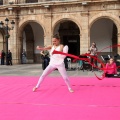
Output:
<instances>
[{"instance_id":1,"label":"dancer in white top and pale tights, lunging on pink carpet","mask_svg":"<svg viewBox=\"0 0 120 120\"><path fill-rule=\"evenodd\" d=\"M50 46L44 47L44 48L37 46L38 50L50 50L51 49L51 51L50 51L50 63L47 66L47 68L43 71L42 75L40 76L37 85L33 88L33 92L35 92L38 89L38 87L40 86L40 84L42 83L44 78L48 74L50 74L52 71L54 71L55 69L58 69L61 76L65 80L65 83L68 87L68 90L70 92L74 92L71 88L70 81L69 81L69 78L68 78L68 75L67 75L67 72L65 69L65 65L64 65L64 58L66 56L61 55L61 54L52 54L52 52L54 50L68 53L68 46L63 46L62 44L60 44L60 38L58 35L53 36L52 43L53 43L53 45L50 45Z\"/></svg>"}]
</instances>

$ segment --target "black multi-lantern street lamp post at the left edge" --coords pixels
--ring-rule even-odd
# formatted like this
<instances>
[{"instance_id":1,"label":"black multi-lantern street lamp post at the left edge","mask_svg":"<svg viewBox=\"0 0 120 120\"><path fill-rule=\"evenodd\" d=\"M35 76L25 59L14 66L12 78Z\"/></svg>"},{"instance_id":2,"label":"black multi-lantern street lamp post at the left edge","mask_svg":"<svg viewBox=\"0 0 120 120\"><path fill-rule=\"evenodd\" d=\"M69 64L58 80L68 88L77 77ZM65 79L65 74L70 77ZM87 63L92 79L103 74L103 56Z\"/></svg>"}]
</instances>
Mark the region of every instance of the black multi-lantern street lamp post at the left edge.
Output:
<instances>
[{"instance_id":1,"label":"black multi-lantern street lamp post at the left edge","mask_svg":"<svg viewBox=\"0 0 120 120\"><path fill-rule=\"evenodd\" d=\"M12 22L11 22L11 25L12 25L12 26L11 26L11 27L9 27L8 24L9 24L9 19L8 19L8 18L5 19L5 25L4 25L3 21L0 22L0 28L3 28L3 29L5 30L5 40L6 40L6 65L8 65L8 60L7 60L7 56L8 56L8 38L10 37L8 31L14 29L15 22L14 22L14 20L12 20Z\"/></svg>"}]
</instances>

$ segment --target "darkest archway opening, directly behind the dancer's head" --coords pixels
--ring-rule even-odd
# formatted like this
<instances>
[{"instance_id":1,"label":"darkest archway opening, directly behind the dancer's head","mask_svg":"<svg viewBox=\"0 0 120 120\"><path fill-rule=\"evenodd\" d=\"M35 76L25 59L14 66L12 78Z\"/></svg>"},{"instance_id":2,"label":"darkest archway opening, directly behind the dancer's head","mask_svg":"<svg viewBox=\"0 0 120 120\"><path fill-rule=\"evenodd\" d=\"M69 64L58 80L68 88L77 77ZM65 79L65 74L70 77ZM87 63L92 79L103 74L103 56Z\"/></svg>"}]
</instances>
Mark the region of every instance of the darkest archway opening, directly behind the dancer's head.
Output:
<instances>
[{"instance_id":1,"label":"darkest archway opening, directly behind the dancer's head","mask_svg":"<svg viewBox=\"0 0 120 120\"><path fill-rule=\"evenodd\" d=\"M70 54L80 55L80 30L76 23L63 20L55 26L53 33L60 35L61 42L68 45Z\"/></svg>"}]
</instances>

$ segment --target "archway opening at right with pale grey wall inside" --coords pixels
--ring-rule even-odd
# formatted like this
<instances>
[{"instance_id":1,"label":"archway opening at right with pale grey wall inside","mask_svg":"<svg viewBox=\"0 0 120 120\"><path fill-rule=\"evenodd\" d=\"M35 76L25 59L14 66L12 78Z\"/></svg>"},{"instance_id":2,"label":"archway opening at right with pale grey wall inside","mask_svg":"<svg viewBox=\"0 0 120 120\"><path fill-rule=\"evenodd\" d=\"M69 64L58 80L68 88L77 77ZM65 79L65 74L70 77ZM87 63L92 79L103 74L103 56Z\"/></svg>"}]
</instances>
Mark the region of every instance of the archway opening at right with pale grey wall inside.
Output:
<instances>
[{"instance_id":1,"label":"archway opening at right with pale grey wall inside","mask_svg":"<svg viewBox=\"0 0 120 120\"><path fill-rule=\"evenodd\" d=\"M96 42L98 51L118 43L117 27L115 23L108 18L101 18L95 21L90 29L90 44ZM117 48L107 48L102 54L117 54Z\"/></svg>"}]
</instances>

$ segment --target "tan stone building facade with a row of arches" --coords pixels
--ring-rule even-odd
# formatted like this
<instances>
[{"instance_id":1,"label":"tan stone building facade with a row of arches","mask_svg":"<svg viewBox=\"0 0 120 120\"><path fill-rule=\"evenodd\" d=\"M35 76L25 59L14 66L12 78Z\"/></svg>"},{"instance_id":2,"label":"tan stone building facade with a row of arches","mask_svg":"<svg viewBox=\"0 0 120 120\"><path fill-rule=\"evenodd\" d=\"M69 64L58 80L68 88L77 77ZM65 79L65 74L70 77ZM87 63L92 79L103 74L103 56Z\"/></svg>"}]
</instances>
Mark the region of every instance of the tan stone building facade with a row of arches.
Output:
<instances>
[{"instance_id":1,"label":"tan stone building facade with a row of arches","mask_svg":"<svg viewBox=\"0 0 120 120\"><path fill-rule=\"evenodd\" d=\"M36 46L51 44L53 34L69 46L69 53L86 53L96 42L102 54L120 54L120 0L0 0L0 21L15 21L9 31L8 49L13 62L21 63L25 49L28 63L40 62ZM9 26L11 24L9 23ZM5 30L0 28L0 50L6 51Z\"/></svg>"}]
</instances>

